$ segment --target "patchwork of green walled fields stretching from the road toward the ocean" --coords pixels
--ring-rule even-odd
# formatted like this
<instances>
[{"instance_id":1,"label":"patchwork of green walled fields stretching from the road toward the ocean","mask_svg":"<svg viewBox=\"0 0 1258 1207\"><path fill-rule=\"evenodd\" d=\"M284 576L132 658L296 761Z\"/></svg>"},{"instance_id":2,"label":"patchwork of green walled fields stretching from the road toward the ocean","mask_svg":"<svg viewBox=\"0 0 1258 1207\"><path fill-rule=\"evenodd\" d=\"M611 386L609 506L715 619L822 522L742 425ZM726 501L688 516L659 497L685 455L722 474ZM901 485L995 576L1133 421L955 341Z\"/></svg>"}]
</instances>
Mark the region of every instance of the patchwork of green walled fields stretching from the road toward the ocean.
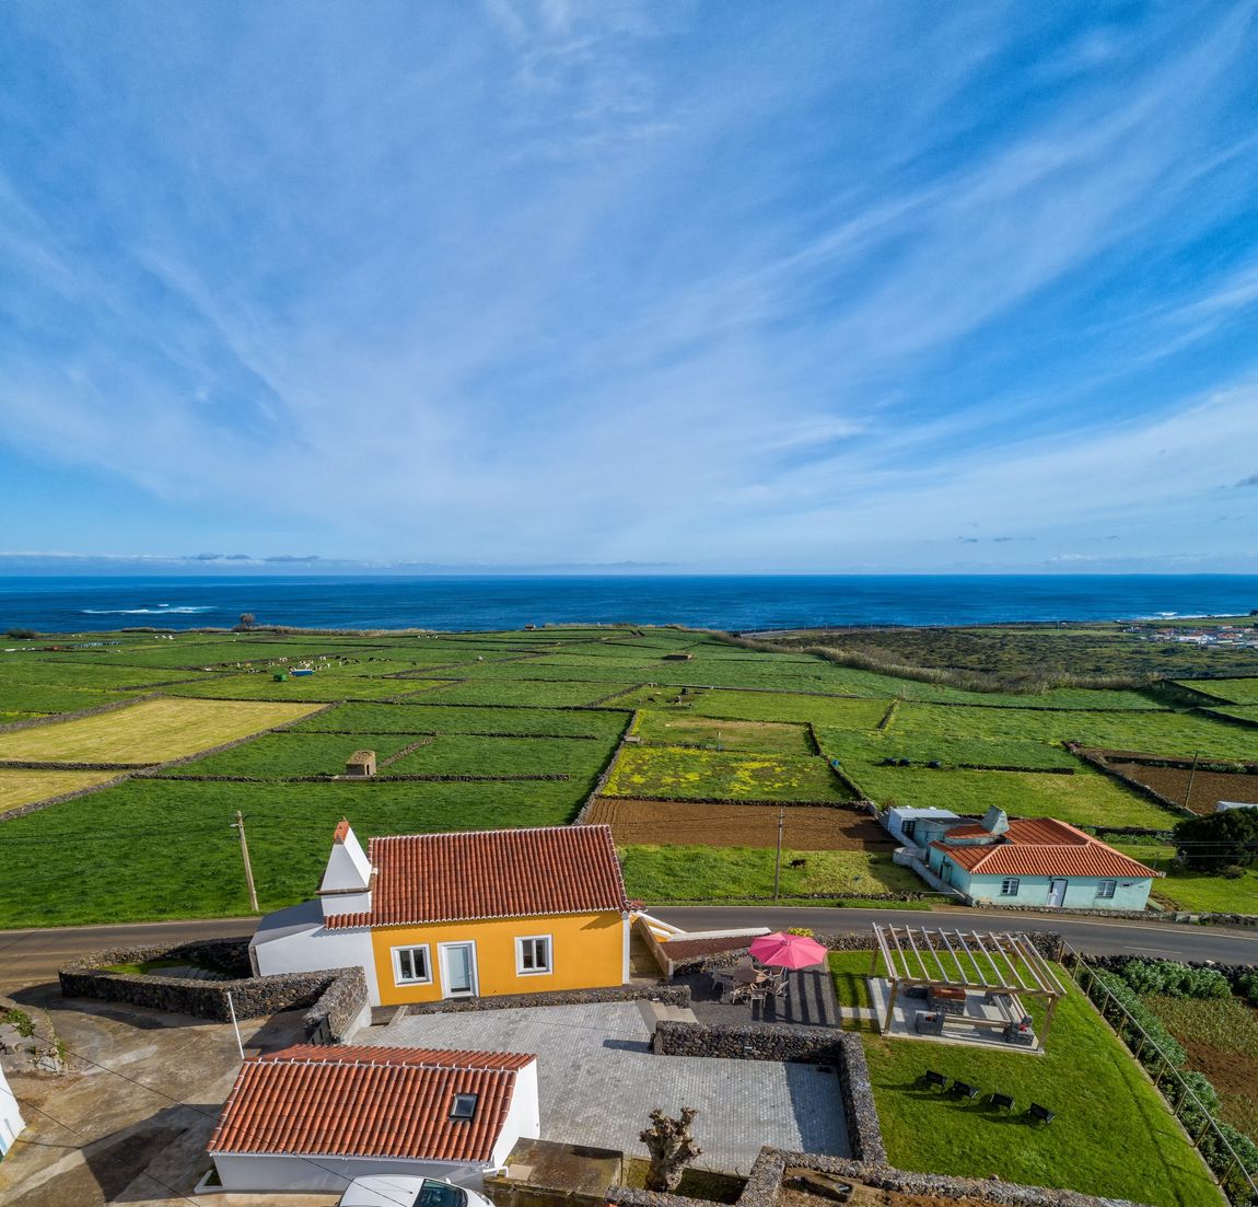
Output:
<instances>
[{"instance_id":1,"label":"patchwork of green walled fields stretching from the road toward the ocean","mask_svg":"<svg viewBox=\"0 0 1258 1207\"><path fill-rule=\"evenodd\" d=\"M1092 639L1083 631L1077 637ZM1063 639L1052 633L1054 643ZM48 644L63 648L43 648ZM697 826L708 824L698 803L704 797L847 799L852 793L828 765L833 758L882 804L940 804L962 813L1000 804L1014 814L1078 824L1165 829L1174 817L1092 772L1063 743L1189 758L1198 750L1258 756L1252 727L1189 709L1186 693L1175 688L1066 686L1001 695L843 666L801 648L761 652L669 628L126 633L14 641L5 648L13 652L0 652L0 722L140 695L159 699L0 731L0 760L152 763L243 740L164 778L133 779L0 823L0 916L11 918L9 925L242 911L238 852L226 829L237 809L247 814L264 871L265 907L308 896L327 833L342 814L365 837L569 822L634 710L638 741L623 748L608 795L682 799L696 811ZM691 657L665 657L679 652ZM302 666L313 673L293 677ZM277 681L281 672L288 677ZM1229 680L1222 690L1235 693L1245 682ZM1253 707L1219 700L1220 709ZM281 724L282 733L265 733ZM809 725L824 755L815 751ZM384 775L489 779L284 783L337 775L360 748L381 760L398 756ZM901 759L911 765L888 765ZM1071 769L1074 774L1063 774ZM267 783L174 778L198 775ZM33 793L35 800L59 794L69 783L10 768L0 777L0 809L26 803ZM47 860L24 855L40 843L45 855L62 852L72 871L82 865L78 884ZM782 891L825 900L922 891L910 872L884 862L877 845L855 846L795 852L805 863L784 870ZM771 852L764 850L626 850L647 897L728 901L771 892ZM1223 901L1248 902L1252 889L1249 880L1175 875L1155 891L1166 901L1181 899L1185 909L1220 909Z\"/></svg>"}]
</instances>

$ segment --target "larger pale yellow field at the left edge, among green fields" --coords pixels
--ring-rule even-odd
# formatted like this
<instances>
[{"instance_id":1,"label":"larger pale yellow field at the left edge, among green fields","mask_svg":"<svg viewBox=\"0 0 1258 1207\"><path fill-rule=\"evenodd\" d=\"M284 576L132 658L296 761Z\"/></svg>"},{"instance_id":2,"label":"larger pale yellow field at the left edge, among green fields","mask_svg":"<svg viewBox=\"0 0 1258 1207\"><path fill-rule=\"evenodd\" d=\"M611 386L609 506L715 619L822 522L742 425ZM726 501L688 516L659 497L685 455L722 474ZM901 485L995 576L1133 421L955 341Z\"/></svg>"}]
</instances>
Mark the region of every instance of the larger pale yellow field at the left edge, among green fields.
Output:
<instances>
[{"instance_id":1,"label":"larger pale yellow field at the left edge, among green fields","mask_svg":"<svg viewBox=\"0 0 1258 1207\"><path fill-rule=\"evenodd\" d=\"M146 700L73 721L0 734L0 760L165 763L301 720L313 707L220 700Z\"/></svg>"}]
</instances>

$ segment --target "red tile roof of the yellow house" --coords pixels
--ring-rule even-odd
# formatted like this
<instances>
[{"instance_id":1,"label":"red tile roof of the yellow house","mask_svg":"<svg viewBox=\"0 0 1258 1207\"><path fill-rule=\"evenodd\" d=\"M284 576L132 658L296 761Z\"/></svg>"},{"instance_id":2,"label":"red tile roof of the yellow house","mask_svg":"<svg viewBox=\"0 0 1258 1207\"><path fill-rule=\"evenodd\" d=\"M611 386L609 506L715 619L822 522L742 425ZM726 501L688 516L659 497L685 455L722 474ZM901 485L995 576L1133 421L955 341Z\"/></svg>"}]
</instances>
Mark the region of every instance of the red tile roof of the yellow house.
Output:
<instances>
[{"instance_id":1,"label":"red tile roof of the yellow house","mask_svg":"<svg viewBox=\"0 0 1258 1207\"><path fill-rule=\"evenodd\" d=\"M372 838L371 909L325 925L403 926L628 907L610 826Z\"/></svg>"}]
</instances>

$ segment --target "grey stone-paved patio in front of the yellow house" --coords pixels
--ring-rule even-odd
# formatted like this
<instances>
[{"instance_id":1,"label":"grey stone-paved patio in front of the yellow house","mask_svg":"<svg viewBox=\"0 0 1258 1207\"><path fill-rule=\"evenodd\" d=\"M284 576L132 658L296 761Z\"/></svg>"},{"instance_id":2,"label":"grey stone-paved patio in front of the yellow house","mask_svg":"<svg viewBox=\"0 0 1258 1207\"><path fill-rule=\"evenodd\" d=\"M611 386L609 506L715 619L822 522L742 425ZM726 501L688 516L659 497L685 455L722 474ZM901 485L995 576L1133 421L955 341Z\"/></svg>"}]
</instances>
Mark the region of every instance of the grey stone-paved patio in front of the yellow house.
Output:
<instances>
[{"instance_id":1,"label":"grey stone-paved patio in front of the yellow house","mask_svg":"<svg viewBox=\"0 0 1258 1207\"><path fill-rule=\"evenodd\" d=\"M697 1165L746 1173L761 1145L849 1154L838 1080L813 1065L653 1056L634 1002L404 1017L357 1043L536 1052L542 1138L647 1155L653 1108L694 1106Z\"/></svg>"}]
</instances>

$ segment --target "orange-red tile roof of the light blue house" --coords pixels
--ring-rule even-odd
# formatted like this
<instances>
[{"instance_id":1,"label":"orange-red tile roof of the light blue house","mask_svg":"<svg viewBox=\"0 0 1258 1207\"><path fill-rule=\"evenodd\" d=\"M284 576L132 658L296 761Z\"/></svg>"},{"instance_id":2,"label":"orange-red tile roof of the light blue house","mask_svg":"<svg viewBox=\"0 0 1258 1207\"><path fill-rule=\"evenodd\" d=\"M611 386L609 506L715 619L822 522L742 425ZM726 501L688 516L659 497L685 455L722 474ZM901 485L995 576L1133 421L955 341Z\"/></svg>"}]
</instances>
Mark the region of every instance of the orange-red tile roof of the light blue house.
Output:
<instances>
[{"instance_id":1,"label":"orange-red tile roof of the light blue house","mask_svg":"<svg viewBox=\"0 0 1258 1207\"><path fill-rule=\"evenodd\" d=\"M949 838L980 838L981 826L956 826ZM966 871L982 876L1101 876L1107 880L1145 880L1160 876L1098 838L1050 817L1011 821L1003 841L955 847L936 841L931 846Z\"/></svg>"}]
</instances>

